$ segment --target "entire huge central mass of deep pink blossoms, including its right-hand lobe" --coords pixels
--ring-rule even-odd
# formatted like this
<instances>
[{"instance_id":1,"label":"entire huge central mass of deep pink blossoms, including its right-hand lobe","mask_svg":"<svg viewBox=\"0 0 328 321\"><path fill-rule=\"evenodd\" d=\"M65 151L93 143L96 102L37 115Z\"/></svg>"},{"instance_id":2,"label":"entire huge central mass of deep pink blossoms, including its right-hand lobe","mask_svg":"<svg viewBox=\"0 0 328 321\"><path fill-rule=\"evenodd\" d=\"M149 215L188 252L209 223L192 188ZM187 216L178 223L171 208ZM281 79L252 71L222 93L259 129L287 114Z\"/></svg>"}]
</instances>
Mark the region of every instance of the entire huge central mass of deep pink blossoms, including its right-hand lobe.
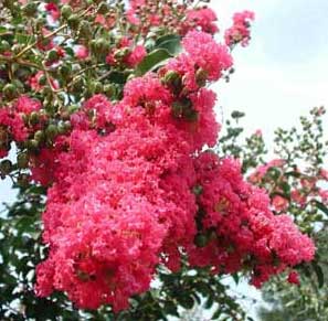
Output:
<instances>
[{"instance_id":1,"label":"entire huge central mass of deep pink blossoms, including its right-hand lobe","mask_svg":"<svg viewBox=\"0 0 328 321\"><path fill-rule=\"evenodd\" d=\"M87 100L72 116L70 136L35 157L34 180L52 183L39 296L60 290L77 307L119 311L149 289L159 264L179 269L182 253L213 271L250 270L256 286L313 258L311 240L287 216L273 215L236 161L201 152L216 141L215 94L167 76L197 79L202 68L205 81L218 79L232 60L202 32L182 44L184 53L158 74L129 81L120 101ZM202 247L199 235L208 237Z\"/></svg>"}]
</instances>

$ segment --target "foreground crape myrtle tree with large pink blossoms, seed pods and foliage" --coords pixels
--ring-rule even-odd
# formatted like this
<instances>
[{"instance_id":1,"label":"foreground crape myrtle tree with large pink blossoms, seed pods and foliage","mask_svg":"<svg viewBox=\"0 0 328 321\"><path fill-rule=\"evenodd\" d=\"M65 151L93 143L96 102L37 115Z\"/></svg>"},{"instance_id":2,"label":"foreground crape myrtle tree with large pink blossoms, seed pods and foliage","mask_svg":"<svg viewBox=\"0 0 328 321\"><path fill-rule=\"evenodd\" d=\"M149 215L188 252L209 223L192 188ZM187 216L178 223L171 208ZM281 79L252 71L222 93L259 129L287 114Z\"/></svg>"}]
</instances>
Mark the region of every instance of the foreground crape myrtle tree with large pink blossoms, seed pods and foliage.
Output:
<instances>
[{"instance_id":1,"label":"foreground crape myrtle tree with large pink blossoms, seed pods and foliage","mask_svg":"<svg viewBox=\"0 0 328 321\"><path fill-rule=\"evenodd\" d=\"M223 275L260 288L314 261L310 231L273 208L239 149L215 152L210 85L254 14L219 43L207 2L1 2L0 174L18 189L1 214L2 319L166 320L201 304L245 320Z\"/></svg>"}]
</instances>

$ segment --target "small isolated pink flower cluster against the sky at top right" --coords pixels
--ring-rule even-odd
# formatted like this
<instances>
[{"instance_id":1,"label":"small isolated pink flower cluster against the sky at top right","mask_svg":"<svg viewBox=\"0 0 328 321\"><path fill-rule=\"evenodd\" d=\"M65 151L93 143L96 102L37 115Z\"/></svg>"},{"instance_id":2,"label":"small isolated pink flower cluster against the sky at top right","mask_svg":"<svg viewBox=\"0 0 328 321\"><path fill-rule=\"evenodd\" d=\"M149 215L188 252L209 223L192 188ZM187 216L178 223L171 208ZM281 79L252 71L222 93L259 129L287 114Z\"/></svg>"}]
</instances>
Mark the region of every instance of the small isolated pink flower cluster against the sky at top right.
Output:
<instances>
[{"instance_id":1,"label":"small isolated pink flower cluster against the sky at top right","mask_svg":"<svg viewBox=\"0 0 328 321\"><path fill-rule=\"evenodd\" d=\"M250 22L254 20L254 12L243 11L233 15L233 25L224 33L225 44L233 46L241 43L246 46L251 39Z\"/></svg>"}]
</instances>

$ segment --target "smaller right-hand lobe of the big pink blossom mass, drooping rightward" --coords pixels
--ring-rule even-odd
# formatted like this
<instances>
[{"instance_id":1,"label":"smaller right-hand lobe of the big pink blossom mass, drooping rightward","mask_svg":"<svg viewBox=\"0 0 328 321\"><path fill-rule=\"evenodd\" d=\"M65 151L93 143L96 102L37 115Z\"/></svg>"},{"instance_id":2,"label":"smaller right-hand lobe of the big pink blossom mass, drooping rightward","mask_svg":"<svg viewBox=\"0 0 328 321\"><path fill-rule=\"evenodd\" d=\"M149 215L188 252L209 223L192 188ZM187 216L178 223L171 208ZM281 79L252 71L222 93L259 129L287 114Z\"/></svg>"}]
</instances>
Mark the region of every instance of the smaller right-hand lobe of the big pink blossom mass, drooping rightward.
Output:
<instances>
[{"instance_id":1,"label":"smaller right-hand lobe of the big pink blossom mass, drooping rightward","mask_svg":"<svg viewBox=\"0 0 328 321\"><path fill-rule=\"evenodd\" d=\"M313 259L313 242L290 217L269 211L267 194L243 180L237 161L204 152L195 159L195 171L202 186L200 233L208 244L191 246L192 265L212 266L218 272L246 269L252 283L261 287L288 266Z\"/></svg>"}]
</instances>

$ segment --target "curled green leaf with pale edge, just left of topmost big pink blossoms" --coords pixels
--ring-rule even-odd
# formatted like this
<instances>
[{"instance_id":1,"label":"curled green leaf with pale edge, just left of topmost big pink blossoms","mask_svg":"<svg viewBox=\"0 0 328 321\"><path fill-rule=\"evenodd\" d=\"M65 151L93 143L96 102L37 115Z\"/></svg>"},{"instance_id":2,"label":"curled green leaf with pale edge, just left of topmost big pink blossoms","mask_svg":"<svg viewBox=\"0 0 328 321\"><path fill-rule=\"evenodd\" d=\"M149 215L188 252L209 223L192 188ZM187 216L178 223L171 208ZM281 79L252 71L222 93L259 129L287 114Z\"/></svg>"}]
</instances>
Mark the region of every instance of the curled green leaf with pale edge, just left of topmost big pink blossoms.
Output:
<instances>
[{"instance_id":1,"label":"curled green leaf with pale edge, just left of topmost big pink blossoms","mask_svg":"<svg viewBox=\"0 0 328 321\"><path fill-rule=\"evenodd\" d=\"M163 65L172 55L165 49L157 49L149 53L136 68L136 75L142 76Z\"/></svg>"}]
</instances>

